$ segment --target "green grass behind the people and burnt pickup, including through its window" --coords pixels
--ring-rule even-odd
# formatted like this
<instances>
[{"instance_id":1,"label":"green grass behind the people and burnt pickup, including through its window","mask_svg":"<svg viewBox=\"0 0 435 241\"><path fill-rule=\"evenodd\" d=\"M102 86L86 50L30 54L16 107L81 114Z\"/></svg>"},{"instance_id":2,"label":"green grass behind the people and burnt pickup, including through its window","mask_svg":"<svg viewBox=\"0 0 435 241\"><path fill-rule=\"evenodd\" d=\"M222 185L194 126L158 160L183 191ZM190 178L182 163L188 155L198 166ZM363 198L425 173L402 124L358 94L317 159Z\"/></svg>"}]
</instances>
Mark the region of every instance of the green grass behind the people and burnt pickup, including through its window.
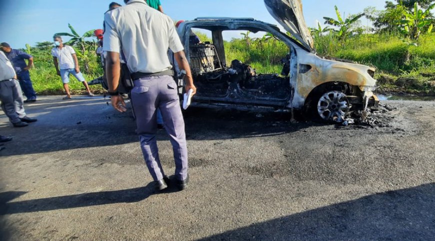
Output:
<instances>
[{"instance_id":1,"label":"green grass behind the people and burnt pickup, including through its window","mask_svg":"<svg viewBox=\"0 0 435 241\"><path fill-rule=\"evenodd\" d=\"M210 40L198 33L202 41ZM314 36L317 54L349 59L377 69L379 91L435 94L435 34L422 35L416 46L406 43L395 35L360 34L338 40L333 35ZM280 73L280 60L285 57L287 47L275 40L235 38L224 43L226 61L238 59L250 64L257 73ZM50 55L50 47L31 48L35 67L30 70L34 88L38 94L63 93L60 77L56 75ZM84 73L87 81L102 75L99 61L93 51L89 51L89 73ZM83 61L80 61L83 71ZM84 93L81 83L71 77L73 93ZM92 86L92 91L103 92L100 86Z\"/></svg>"}]
</instances>

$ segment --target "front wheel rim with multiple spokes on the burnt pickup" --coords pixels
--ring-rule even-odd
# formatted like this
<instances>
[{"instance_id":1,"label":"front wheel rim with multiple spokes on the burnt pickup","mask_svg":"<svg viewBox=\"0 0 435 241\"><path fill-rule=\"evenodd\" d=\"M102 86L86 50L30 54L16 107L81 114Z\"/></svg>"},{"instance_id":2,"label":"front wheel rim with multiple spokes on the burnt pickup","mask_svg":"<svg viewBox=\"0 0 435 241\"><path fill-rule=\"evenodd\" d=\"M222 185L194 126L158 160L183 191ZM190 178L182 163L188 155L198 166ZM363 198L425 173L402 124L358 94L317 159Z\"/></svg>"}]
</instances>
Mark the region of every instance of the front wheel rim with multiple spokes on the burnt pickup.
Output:
<instances>
[{"instance_id":1,"label":"front wheel rim with multiple spokes on the burnt pickup","mask_svg":"<svg viewBox=\"0 0 435 241\"><path fill-rule=\"evenodd\" d=\"M318 98L317 114L327 122L342 122L349 111L349 100L340 91L329 91Z\"/></svg>"}]
</instances>

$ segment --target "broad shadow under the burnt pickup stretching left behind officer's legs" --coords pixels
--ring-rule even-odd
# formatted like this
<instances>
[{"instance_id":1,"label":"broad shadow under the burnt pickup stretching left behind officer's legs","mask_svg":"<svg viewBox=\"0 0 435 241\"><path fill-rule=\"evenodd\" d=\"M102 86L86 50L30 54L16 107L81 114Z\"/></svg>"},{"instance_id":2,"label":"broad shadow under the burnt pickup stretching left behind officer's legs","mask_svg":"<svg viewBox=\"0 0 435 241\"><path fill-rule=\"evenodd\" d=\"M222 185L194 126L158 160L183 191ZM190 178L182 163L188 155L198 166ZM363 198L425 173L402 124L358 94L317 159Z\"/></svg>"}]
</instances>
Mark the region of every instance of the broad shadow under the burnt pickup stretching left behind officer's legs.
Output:
<instances>
[{"instance_id":1,"label":"broad shadow under the burnt pickup stretching left behind officer's legs","mask_svg":"<svg viewBox=\"0 0 435 241\"><path fill-rule=\"evenodd\" d=\"M25 107L27 113L38 121L19 129L10 125L0 127L2 135L14 138L0 155L48 153L138 142L131 111L118 113L106 102L99 97L69 102L49 99L28 105ZM258 115L254 112L196 108L184 114L187 140L274 136L313 125L291 122L288 113ZM164 130L158 131L157 140L168 140Z\"/></svg>"}]
</instances>

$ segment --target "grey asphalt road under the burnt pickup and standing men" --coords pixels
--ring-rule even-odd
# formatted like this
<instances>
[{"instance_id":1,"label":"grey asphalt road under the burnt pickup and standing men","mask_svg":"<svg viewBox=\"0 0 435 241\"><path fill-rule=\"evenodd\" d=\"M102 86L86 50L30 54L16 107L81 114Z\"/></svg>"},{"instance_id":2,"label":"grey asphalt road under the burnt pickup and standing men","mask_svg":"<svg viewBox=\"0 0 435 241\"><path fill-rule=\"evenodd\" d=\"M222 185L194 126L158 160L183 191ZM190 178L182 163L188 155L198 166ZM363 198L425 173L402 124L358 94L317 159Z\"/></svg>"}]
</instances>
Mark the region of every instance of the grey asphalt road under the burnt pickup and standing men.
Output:
<instances>
[{"instance_id":1,"label":"grey asphalt road under the burnt pickup and standing men","mask_svg":"<svg viewBox=\"0 0 435 241\"><path fill-rule=\"evenodd\" d=\"M190 110L189 187L153 193L130 114L102 97L26 105L0 152L2 240L434 240L435 102L386 127ZM163 168L171 146L158 132Z\"/></svg>"}]
</instances>

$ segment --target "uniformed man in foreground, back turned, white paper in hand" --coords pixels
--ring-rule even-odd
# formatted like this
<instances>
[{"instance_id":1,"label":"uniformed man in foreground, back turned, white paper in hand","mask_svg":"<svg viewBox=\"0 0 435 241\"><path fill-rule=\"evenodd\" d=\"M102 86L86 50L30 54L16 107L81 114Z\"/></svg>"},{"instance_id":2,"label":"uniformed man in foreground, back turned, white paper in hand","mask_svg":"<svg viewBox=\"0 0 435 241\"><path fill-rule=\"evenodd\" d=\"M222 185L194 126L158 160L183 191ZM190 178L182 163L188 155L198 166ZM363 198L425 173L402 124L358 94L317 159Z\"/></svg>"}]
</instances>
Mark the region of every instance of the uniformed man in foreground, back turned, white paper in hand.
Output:
<instances>
[{"instance_id":1,"label":"uniformed man in foreground, back turned, white paper in hand","mask_svg":"<svg viewBox=\"0 0 435 241\"><path fill-rule=\"evenodd\" d=\"M119 82L119 52L122 49L134 88L131 103L136 116L137 133L148 170L155 181L156 190L167 188L158 156L155 134L156 109L163 116L169 134L175 161L175 181L178 189L187 186L187 144L184 120L181 114L177 84L167 57L170 48L180 69L187 72L185 90L196 92L183 45L175 31L172 19L149 7L144 0L124 0L104 16L103 50L107 51L106 76L113 107L125 111L122 97L116 91ZM121 47L122 45L122 47Z\"/></svg>"}]
</instances>

